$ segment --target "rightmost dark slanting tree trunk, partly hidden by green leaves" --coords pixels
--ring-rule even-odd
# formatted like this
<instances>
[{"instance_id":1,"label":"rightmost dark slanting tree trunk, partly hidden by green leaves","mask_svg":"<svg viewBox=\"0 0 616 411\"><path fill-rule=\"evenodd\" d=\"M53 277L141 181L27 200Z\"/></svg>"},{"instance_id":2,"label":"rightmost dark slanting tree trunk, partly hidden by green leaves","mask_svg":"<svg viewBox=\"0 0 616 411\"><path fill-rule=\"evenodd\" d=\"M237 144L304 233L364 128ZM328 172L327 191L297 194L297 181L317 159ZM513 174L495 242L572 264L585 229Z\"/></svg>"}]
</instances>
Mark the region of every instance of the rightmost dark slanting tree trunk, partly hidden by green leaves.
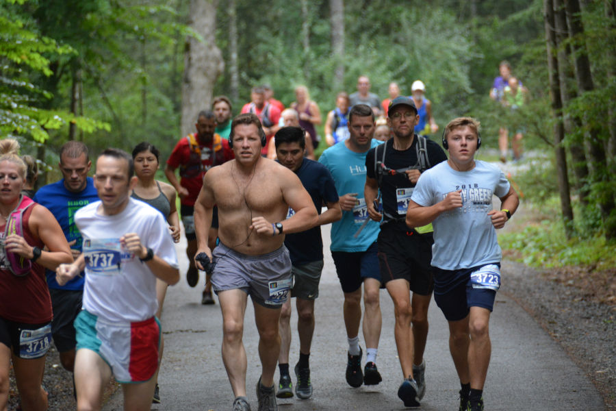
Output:
<instances>
[{"instance_id":1,"label":"rightmost dark slanting tree trunk, partly hidden by green leaves","mask_svg":"<svg viewBox=\"0 0 616 411\"><path fill-rule=\"evenodd\" d=\"M555 0L554 4L556 5ZM574 40L574 54L576 55L576 77L580 92L591 91L595 88L591 73L590 60L585 44L582 42L584 36L584 25L580 16L580 3L578 0L565 0L567 10L567 23L569 25L569 36ZM590 123L585 116L585 123ZM614 192L606 190L609 187L608 164L606 159L605 147L600 138L600 132L596 127L589 127L589 132L585 136L585 147L588 155L588 169L590 172L591 183L599 184L598 206L602 214L602 225L606 233L606 238L616 238L616 221L610 214L614 209Z\"/></svg>"}]
</instances>

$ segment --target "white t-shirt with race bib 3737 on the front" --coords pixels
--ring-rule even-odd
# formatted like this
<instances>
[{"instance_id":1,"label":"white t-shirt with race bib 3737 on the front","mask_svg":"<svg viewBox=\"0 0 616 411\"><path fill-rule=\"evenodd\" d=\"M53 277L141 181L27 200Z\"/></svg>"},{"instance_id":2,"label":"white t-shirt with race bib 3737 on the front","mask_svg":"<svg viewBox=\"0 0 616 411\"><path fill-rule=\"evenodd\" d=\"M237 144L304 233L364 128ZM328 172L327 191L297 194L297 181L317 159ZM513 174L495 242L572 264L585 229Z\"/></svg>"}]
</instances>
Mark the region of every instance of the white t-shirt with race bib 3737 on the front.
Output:
<instances>
[{"instance_id":1,"label":"white t-shirt with race bib 3737 on the front","mask_svg":"<svg viewBox=\"0 0 616 411\"><path fill-rule=\"evenodd\" d=\"M120 237L137 233L144 247L177 268L175 246L160 212L130 198L119 214L97 212L101 201L75 213L84 238L86 284L84 309L107 321L144 321L156 313L156 277L137 256L120 249Z\"/></svg>"}]
</instances>

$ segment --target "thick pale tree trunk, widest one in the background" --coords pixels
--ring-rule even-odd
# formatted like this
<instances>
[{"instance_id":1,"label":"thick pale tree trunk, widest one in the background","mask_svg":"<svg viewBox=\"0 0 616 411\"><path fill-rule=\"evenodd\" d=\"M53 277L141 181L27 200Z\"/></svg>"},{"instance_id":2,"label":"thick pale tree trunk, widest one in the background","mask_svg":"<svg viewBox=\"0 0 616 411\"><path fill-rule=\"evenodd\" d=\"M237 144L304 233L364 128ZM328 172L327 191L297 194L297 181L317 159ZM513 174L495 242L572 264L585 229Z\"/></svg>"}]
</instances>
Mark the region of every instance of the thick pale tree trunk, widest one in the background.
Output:
<instances>
[{"instance_id":1,"label":"thick pale tree trunk, widest one in the background","mask_svg":"<svg viewBox=\"0 0 616 411\"><path fill-rule=\"evenodd\" d=\"M188 25L203 37L190 37L184 47L181 133L194 130L196 115L211 109L211 97L218 75L224 69L222 53L216 47L216 6L218 0L191 0Z\"/></svg>"}]
</instances>

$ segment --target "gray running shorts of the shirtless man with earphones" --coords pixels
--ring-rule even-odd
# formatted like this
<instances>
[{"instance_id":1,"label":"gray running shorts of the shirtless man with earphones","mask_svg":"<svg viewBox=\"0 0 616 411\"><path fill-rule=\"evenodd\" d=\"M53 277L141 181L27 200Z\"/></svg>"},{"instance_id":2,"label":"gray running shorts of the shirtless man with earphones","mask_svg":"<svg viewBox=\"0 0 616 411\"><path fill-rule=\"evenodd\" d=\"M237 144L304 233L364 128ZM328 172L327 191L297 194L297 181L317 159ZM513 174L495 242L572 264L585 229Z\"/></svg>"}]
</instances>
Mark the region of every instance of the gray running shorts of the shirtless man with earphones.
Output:
<instances>
[{"instance_id":1,"label":"gray running shorts of the shirtless man with earphones","mask_svg":"<svg viewBox=\"0 0 616 411\"><path fill-rule=\"evenodd\" d=\"M214 249L211 285L220 291L240 289L255 303L281 308L291 288L291 258L284 245L271 253L248 256L222 242Z\"/></svg>"}]
</instances>

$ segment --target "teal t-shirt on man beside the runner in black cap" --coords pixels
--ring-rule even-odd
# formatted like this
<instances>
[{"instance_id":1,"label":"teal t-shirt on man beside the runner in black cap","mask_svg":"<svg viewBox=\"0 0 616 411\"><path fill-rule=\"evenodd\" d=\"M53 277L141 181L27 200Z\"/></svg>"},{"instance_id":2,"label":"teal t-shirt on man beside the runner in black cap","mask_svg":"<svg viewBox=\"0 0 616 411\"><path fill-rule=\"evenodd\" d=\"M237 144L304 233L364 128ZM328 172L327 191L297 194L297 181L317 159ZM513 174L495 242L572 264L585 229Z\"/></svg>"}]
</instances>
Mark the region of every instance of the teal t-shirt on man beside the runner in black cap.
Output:
<instances>
[{"instance_id":1,"label":"teal t-shirt on man beside the runner in black cap","mask_svg":"<svg viewBox=\"0 0 616 411\"><path fill-rule=\"evenodd\" d=\"M378 140L372 140L370 148L379 145ZM342 219L331 225L331 251L346 251L357 253L365 251L376 241L378 225L376 221L368 217L368 209L363 199L363 187L365 186L365 153L355 153L339 142L321 154L319 162L329 169L336 184L338 195L348 192L357 192L357 206L352 211L343 211ZM357 238L355 233L361 227L365 219L368 224L363 227Z\"/></svg>"}]
</instances>

